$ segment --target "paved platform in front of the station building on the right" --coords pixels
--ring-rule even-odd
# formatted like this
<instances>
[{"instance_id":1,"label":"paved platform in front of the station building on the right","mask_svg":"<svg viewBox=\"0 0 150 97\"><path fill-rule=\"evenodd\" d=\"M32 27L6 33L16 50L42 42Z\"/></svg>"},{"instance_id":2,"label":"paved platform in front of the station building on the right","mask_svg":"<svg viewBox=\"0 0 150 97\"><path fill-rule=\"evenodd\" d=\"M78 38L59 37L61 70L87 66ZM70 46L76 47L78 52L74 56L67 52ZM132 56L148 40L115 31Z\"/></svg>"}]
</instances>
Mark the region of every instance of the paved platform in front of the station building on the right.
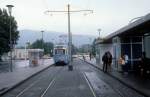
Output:
<instances>
[{"instance_id":1,"label":"paved platform in front of the station building on the right","mask_svg":"<svg viewBox=\"0 0 150 97\"><path fill-rule=\"evenodd\" d=\"M98 65L96 64L95 58L89 59L88 57L86 58L86 61L97 68L100 68L102 70L102 64ZM140 78L139 76L135 76L134 74L128 74L128 75L123 75L122 73L114 70L112 68L111 72L108 72L109 75L112 77L117 78L118 80L122 81L123 83L127 84L129 87L137 90L138 92L141 92L142 94L145 94L145 96L150 97L150 79L143 79Z\"/></svg>"}]
</instances>

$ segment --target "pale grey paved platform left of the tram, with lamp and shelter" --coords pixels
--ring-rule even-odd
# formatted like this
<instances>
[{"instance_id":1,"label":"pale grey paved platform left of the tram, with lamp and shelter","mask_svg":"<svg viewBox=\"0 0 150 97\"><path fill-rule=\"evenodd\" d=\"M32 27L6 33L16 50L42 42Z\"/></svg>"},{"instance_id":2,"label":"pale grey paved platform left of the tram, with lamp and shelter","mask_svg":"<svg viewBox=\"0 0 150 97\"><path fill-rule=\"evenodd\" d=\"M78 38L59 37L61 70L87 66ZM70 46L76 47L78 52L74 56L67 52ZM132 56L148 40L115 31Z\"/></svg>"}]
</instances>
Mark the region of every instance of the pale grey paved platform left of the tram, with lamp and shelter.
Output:
<instances>
[{"instance_id":1,"label":"pale grey paved platform left of the tram, with lamp and shelter","mask_svg":"<svg viewBox=\"0 0 150 97\"><path fill-rule=\"evenodd\" d=\"M17 61L13 68L13 72L0 73L0 93L52 64L53 59L45 59L43 64L39 64L35 67L30 67L28 61Z\"/></svg>"}]
</instances>

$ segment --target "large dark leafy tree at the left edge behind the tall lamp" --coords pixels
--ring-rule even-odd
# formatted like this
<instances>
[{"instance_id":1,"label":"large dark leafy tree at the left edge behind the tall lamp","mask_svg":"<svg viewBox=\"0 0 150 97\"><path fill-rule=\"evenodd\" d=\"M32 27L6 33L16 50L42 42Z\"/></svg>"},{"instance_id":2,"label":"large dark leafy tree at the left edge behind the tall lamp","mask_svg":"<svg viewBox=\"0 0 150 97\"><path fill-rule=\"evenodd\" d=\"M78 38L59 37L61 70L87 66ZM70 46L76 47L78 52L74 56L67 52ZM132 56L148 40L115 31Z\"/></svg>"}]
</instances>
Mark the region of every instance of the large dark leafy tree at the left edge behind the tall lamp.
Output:
<instances>
[{"instance_id":1,"label":"large dark leafy tree at the left edge behind the tall lamp","mask_svg":"<svg viewBox=\"0 0 150 97\"><path fill-rule=\"evenodd\" d=\"M12 44L14 45L17 44L17 40L19 38L17 22L14 17L10 17L8 15L6 9L0 9L0 56L2 56L3 53L7 53L10 51L10 21Z\"/></svg>"}]
</instances>

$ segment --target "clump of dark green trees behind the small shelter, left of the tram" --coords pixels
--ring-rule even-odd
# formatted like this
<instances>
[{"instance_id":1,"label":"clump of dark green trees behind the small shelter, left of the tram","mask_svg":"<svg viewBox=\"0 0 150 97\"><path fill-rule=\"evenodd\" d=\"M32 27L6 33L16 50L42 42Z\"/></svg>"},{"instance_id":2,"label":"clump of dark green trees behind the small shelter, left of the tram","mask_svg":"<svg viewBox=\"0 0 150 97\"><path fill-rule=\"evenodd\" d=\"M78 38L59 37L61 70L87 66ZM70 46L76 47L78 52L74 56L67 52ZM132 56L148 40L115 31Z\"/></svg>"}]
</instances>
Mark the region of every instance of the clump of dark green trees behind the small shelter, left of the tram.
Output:
<instances>
[{"instance_id":1,"label":"clump of dark green trees behind the small shelter, left of the tram","mask_svg":"<svg viewBox=\"0 0 150 97\"><path fill-rule=\"evenodd\" d=\"M36 40L30 45L30 48L33 49L43 49L44 48L44 54L50 54L52 55L53 50L53 43L52 42L44 42L42 39Z\"/></svg>"}]
</instances>

